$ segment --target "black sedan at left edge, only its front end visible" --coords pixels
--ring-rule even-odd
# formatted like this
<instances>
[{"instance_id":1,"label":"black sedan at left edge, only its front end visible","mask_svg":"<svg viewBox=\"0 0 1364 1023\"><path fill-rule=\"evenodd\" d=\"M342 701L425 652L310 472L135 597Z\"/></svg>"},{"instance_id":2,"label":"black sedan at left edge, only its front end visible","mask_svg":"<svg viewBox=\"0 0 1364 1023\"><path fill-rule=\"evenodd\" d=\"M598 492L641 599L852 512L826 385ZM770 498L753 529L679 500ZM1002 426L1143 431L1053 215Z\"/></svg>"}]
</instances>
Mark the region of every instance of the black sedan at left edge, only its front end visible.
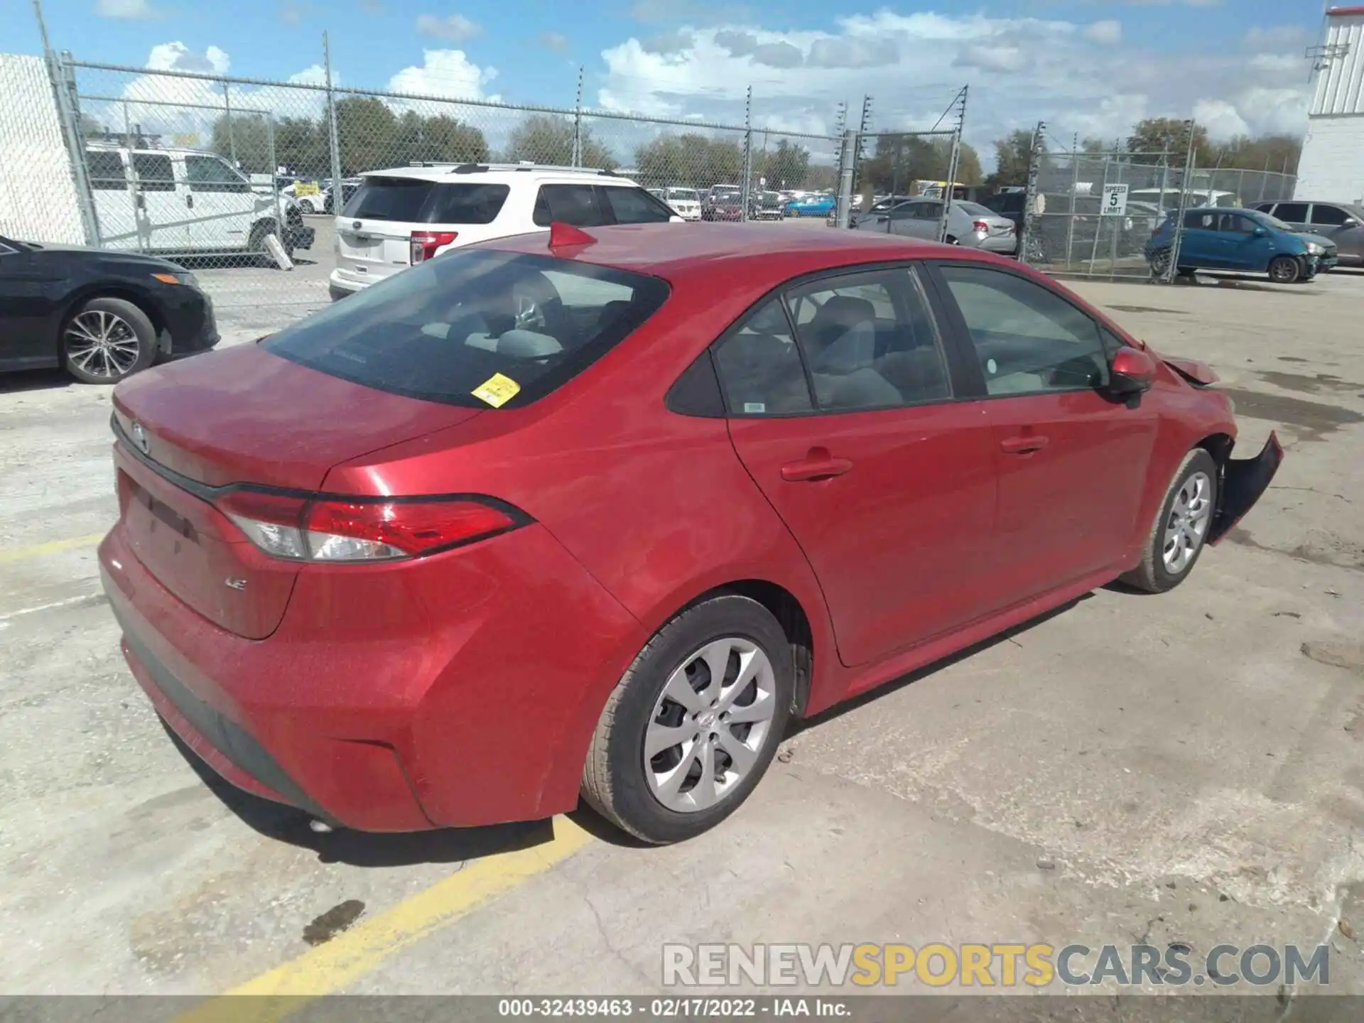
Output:
<instances>
[{"instance_id":1,"label":"black sedan at left edge, only its front end visible","mask_svg":"<svg viewBox=\"0 0 1364 1023\"><path fill-rule=\"evenodd\" d=\"M0 371L63 366L115 383L217 342L213 300L175 263L0 237Z\"/></svg>"}]
</instances>

